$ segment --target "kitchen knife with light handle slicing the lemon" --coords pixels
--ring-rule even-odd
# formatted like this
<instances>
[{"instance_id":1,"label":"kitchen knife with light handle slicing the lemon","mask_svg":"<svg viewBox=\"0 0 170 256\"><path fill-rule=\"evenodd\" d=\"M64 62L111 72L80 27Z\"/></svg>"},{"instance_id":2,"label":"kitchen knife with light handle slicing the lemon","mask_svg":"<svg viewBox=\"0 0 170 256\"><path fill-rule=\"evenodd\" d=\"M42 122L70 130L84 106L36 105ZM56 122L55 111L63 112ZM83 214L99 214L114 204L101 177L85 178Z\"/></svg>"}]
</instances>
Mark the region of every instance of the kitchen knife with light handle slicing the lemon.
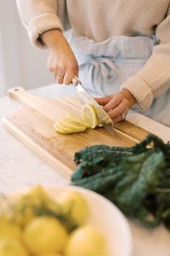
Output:
<instances>
[{"instance_id":1,"label":"kitchen knife with light handle slicing the lemon","mask_svg":"<svg viewBox=\"0 0 170 256\"><path fill-rule=\"evenodd\" d=\"M83 87L83 85L81 85L81 81L79 80L78 77L74 76L73 80L72 80L72 85L76 87L76 91L77 94L79 95L79 97L81 98L81 101L83 101L86 104L91 104L94 106L97 106L98 111L98 119L99 119L99 123L102 124L102 126L107 129L107 131L111 134L115 136L115 129L113 126L113 122L112 119L109 117L109 115L107 114L107 112L105 112L103 110L103 108L97 103L97 101L94 100L94 98L91 97L91 95L89 93L87 93L86 89ZM104 121L104 116L107 116L107 119L109 119L110 124L107 124Z\"/></svg>"}]
</instances>

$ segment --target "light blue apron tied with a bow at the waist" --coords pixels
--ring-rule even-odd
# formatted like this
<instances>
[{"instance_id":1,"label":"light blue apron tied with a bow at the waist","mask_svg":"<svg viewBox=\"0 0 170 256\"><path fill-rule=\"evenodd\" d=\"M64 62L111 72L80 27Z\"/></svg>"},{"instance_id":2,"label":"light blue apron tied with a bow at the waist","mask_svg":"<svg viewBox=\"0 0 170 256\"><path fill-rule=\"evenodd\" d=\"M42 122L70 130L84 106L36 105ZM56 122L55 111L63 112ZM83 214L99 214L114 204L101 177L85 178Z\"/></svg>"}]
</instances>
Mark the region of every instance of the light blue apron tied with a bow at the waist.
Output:
<instances>
[{"instance_id":1,"label":"light blue apron tied with a bow at the waist","mask_svg":"<svg viewBox=\"0 0 170 256\"><path fill-rule=\"evenodd\" d=\"M114 36L101 43L72 32L68 43L79 62L79 78L94 97L118 93L128 77L136 74L151 56L156 38ZM140 112L139 108L135 109ZM170 127L170 90L155 99L146 116Z\"/></svg>"}]
</instances>

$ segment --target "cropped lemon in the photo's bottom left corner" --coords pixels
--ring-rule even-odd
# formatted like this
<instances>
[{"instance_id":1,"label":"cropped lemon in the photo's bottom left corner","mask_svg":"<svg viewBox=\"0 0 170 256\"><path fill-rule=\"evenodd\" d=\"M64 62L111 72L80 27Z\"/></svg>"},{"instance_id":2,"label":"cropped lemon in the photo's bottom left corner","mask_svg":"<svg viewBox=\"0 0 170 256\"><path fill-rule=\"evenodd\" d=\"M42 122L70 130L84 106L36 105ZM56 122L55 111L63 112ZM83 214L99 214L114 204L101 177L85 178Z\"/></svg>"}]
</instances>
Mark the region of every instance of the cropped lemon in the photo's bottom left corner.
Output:
<instances>
[{"instance_id":1,"label":"cropped lemon in the photo's bottom left corner","mask_svg":"<svg viewBox=\"0 0 170 256\"><path fill-rule=\"evenodd\" d=\"M1 256L28 256L24 246L17 240L11 238L0 239Z\"/></svg>"}]
</instances>

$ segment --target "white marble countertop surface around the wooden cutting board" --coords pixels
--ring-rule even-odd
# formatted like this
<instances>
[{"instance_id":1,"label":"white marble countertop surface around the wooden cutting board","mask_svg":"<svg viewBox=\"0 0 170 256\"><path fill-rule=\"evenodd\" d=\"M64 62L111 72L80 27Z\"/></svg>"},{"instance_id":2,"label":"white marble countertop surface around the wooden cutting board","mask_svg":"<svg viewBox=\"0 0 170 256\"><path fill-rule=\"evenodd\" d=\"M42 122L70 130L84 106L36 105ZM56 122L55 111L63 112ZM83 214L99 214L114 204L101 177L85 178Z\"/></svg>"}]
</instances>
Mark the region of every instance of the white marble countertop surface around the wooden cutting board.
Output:
<instances>
[{"instance_id":1,"label":"white marble countertop surface around the wooden cutting board","mask_svg":"<svg viewBox=\"0 0 170 256\"><path fill-rule=\"evenodd\" d=\"M55 84L30 92L48 98L63 98L76 93L75 88ZM19 106L8 97L0 98L0 192L11 194L35 184L48 187L68 184L53 168L3 129L2 116ZM170 141L170 128L133 111L128 115L128 120L153 132L165 142ZM134 240L133 256L170 256L170 232L164 226L148 230L131 221L129 223Z\"/></svg>"}]
</instances>

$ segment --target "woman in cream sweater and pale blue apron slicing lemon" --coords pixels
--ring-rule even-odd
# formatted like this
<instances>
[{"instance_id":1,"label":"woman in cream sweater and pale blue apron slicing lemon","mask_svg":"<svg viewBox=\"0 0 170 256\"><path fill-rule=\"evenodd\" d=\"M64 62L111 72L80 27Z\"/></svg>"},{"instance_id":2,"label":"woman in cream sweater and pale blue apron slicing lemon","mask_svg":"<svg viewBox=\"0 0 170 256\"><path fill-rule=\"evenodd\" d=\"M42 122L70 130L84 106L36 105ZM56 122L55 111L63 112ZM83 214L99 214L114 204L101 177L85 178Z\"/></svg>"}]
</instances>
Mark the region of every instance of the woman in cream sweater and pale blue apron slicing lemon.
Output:
<instances>
[{"instance_id":1,"label":"woman in cream sweater and pale blue apron slicing lemon","mask_svg":"<svg viewBox=\"0 0 170 256\"><path fill-rule=\"evenodd\" d=\"M113 122L130 108L170 126L169 0L17 0L59 84L79 76ZM67 40L63 27L71 27ZM101 98L102 96L102 98ZM104 97L105 96L105 97Z\"/></svg>"}]
</instances>

